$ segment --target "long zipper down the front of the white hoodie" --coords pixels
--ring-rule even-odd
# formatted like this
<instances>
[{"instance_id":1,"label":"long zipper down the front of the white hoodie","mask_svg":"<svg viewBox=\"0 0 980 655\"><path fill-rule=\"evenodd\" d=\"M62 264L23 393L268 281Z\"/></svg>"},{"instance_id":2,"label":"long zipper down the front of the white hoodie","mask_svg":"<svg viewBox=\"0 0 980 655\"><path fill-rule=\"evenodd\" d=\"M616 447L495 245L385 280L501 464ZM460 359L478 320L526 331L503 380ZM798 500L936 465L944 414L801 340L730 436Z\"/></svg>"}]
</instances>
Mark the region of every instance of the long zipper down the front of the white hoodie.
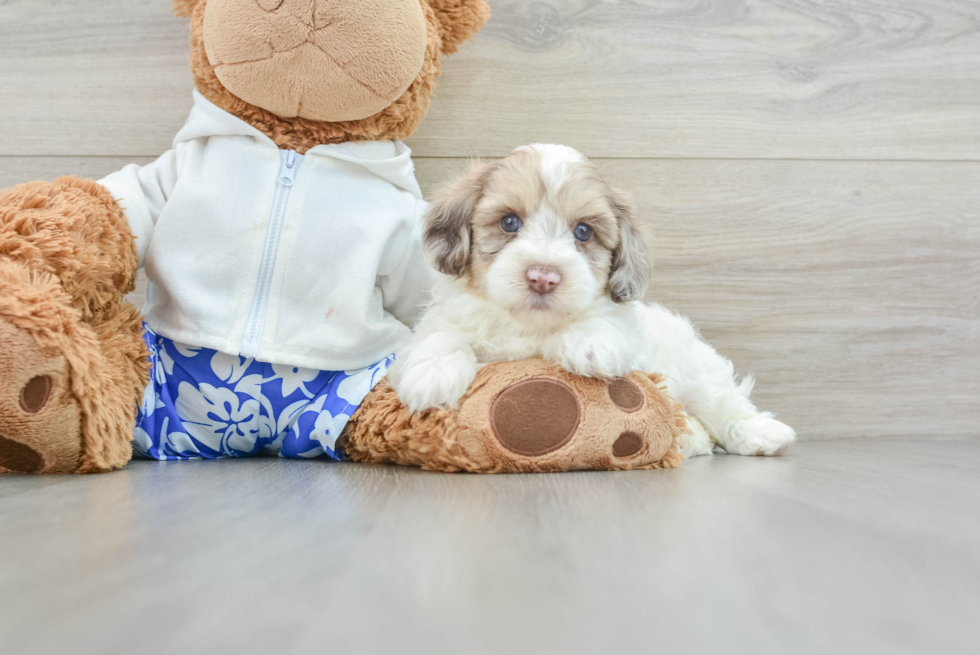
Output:
<instances>
[{"instance_id":1,"label":"long zipper down the front of the white hoodie","mask_svg":"<svg viewBox=\"0 0 980 655\"><path fill-rule=\"evenodd\" d=\"M276 270L276 255L279 253L279 237L289 204L289 193L296 181L296 172L303 163L303 156L295 150L283 150L279 154L279 176L276 178L276 193L272 200L272 213L265 231L265 244L262 246L262 261L259 264L259 278L255 283L252 307L245 321L240 353L243 357L257 357L262 335L265 332L265 319L269 309L269 296L272 293L272 275Z\"/></svg>"}]
</instances>

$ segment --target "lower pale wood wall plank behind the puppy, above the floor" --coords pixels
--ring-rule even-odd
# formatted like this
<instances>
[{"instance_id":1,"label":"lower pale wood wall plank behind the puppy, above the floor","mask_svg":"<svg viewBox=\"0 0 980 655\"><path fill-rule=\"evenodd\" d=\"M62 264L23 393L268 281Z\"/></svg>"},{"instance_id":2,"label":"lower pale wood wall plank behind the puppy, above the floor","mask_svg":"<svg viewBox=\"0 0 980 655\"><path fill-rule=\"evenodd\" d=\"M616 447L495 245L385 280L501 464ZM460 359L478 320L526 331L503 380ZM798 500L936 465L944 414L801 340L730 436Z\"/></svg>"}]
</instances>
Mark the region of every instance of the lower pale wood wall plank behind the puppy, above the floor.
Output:
<instances>
[{"instance_id":1,"label":"lower pale wood wall plank behind the puppy, above the floor","mask_svg":"<svg viewBox=\"0 0 980 655\"><path fill-rule=\"evenodd\" d=\"M0 186L125 163L0 158ZM654 226L650 299L801 438L980 434L980 163L597 163ZM419 160L424 191L466 165Z\"/></svg>"}]
</instances>

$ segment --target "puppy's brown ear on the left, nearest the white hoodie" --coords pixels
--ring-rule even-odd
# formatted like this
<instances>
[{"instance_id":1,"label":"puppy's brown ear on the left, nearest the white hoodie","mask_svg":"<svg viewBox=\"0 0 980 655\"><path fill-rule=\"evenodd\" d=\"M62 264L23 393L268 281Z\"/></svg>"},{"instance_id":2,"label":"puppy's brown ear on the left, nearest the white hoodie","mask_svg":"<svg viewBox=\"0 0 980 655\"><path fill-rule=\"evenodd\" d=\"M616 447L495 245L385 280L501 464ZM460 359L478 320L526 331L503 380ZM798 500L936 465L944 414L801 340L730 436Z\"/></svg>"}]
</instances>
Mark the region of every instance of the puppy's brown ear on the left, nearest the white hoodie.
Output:
<instances>
[{"instance_id":1,"label":"puppy's brown ear on the left, nearest the white hoodie","mask_svg":"<svg viewBox=\"0 0 980 655\"><path fill-rule=\"evenodd\" d=\"M436 191L425 213L422 245L429 262L439 272L454 277L466 273L470 262L470 221L493 167L475 162L463 177Z\"/></svg>"}]
</instances>

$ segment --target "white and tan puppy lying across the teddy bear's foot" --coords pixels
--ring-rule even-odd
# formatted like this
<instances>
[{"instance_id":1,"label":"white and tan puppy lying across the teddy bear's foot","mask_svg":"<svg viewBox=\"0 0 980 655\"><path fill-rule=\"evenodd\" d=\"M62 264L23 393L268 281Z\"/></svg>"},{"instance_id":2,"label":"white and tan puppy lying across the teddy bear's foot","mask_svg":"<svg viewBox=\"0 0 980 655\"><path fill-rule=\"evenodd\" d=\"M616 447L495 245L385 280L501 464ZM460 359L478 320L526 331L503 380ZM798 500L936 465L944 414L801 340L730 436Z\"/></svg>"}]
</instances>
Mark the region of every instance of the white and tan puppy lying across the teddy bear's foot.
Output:
<instances>
[{"instance_id":1,"label":"white and tan puppy lying across the teddy bear's foot","mask_svg":"<svg viewBox=\"0 0 980 655\"><path fill-rule=\"evenodd\" d=\"M425 220L443 275L391 370L412 410L455 406L483 364L543 356L584 376L661 373L690 417L687 456L713 444L774 455L796 438L686 318L642 301L653 267L644 226L575 150L531 145L477 163Z\"/></svg>"}]
</instances>

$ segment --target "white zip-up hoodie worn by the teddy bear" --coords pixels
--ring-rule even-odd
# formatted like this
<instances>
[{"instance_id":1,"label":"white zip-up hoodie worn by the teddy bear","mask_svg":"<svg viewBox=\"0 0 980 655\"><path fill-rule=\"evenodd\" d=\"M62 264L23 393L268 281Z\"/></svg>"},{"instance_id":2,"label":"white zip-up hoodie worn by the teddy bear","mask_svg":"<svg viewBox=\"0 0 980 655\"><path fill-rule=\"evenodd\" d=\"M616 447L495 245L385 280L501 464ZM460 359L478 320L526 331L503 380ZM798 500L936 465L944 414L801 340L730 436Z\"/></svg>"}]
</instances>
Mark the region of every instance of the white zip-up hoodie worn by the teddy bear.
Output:
<instances>
[{"instance_id":1,"label":"white zip-up hoodie worn by the teddy bear","mask_svg":"<svg viewBox=\"0 0 980 655\"><path fill-rule=\"evenodd\" d=\"M428 291L414 171L400 141L280 151L195 91L173 150L101 183L136 236L150 329L339 371L394 352Z\"/></svg>"}]
</instances>

